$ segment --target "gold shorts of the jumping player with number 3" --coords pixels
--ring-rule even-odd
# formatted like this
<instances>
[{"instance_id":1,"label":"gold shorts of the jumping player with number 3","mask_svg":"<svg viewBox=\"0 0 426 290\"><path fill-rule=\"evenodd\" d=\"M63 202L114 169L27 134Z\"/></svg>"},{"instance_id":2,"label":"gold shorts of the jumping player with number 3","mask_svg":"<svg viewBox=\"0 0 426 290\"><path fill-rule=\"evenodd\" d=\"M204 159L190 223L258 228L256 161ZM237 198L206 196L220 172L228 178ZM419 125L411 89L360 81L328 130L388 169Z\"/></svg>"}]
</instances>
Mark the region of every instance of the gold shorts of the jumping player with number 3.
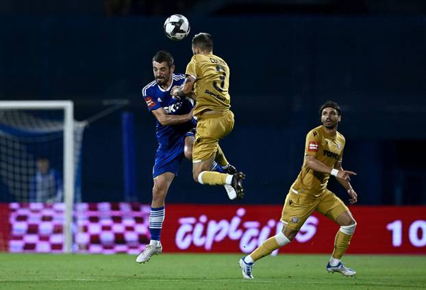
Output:
<instances>
[{"instance_id":1,"label":"gold shorts of the jumping player with number 3","mask_svg":"<svg viewBox=\"0 0 426 290\"><path fill-rule=\"evenodd\" d=\"M219 140L231 133L234 128L234 113L231 111L218 114L201 115L197 122L192 163L205 161L216 154Z\"/></svg>"}]
</instances>

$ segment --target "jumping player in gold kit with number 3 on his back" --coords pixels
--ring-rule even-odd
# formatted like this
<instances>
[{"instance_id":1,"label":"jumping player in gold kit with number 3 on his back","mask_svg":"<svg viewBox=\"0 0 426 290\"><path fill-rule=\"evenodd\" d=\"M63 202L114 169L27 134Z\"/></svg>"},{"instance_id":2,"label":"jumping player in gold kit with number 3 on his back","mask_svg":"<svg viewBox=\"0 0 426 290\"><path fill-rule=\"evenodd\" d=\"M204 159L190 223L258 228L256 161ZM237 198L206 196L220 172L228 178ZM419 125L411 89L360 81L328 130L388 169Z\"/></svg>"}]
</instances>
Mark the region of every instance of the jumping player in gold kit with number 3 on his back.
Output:
<instances>
[{"instance_id":1,"label":"jumping player in gold kit with number 3 on his back","mask_svg":"<svg viewBox=\"0 0 426 290\"><path fill-rule=\"evenodd\" d=\"M213 54L210 34L200 33L192 38L192 59L186 67L184 85L172 89L173 96L190 96L197 101L194 116L197 117L197 133L192 148L192 175L205 185L228 185L228 196L241 199L244 196L242 180L245 174L226 174L211 170L214 160L228 164L219 140L234 128L234 114L230 110L229 67ZM194 90L194 94L191 94ZM226 186L225 186L226 187Z\"/></svg>"}]
</instances>

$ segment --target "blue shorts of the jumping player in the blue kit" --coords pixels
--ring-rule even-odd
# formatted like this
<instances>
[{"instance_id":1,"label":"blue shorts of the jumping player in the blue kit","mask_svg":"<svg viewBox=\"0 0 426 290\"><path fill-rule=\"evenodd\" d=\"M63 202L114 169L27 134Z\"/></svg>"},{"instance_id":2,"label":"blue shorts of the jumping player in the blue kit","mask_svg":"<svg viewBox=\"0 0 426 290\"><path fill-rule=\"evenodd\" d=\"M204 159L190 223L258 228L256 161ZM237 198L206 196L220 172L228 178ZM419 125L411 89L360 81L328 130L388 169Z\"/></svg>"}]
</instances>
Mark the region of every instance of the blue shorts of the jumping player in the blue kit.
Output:
<instances>
[{"instance_id":1,"label":"blue shorts of the jumping player in the blue kit","mask_svg":"<svg viewBox=\"0 0 426 290\"><path fill-rule=\"evenodd\" d=\"M152 168L153 179L164 172L171 172L177 176L182 159L185 157L185 138L188 136L194 137L194 135L195 133L190 131L183 135L173 146L166 149L160 147L157 149L154 166Z\"/></svg>"}]
</instances>

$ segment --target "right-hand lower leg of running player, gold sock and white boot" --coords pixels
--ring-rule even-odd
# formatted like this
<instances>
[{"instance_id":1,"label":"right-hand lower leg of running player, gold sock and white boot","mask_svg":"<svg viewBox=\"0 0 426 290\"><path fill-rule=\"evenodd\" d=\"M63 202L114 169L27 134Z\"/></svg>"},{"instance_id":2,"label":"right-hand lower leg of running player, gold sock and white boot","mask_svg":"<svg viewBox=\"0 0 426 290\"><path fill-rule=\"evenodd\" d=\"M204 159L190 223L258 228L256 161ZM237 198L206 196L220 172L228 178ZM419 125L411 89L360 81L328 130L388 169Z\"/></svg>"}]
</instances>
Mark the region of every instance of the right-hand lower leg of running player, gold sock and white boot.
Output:
<instances>
[{"instance_id":1,"label":"right-hand lower leg of running player, gold sock and white boot","mask_svg":"<svg viewBox=\"0 0 426 290\"><path fill-rule=\"evenodd\" d=\"M327 264L327 272L338 272L344 276L354 276L356 272L351 268L345 267L340 260L349 248L353 232L355 231L356 222L349 209L338 215L336 222L340 225L340 228L334 239L334 251Z\"/></svg>"}]
</instances>

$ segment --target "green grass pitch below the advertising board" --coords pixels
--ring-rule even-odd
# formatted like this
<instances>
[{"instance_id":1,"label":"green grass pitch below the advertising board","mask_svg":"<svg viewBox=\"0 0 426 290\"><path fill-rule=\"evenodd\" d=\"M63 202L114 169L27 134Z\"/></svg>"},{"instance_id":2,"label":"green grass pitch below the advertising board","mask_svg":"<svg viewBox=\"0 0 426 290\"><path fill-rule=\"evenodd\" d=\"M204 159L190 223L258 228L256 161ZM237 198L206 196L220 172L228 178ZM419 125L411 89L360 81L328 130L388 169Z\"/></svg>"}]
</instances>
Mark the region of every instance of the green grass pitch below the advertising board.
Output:
<instances>
[{"instance_id":1,"label":"green grass pitch below the advertising board","mask_svg":"<svg viewBox=\"0 0 426 290\"><path fill-rule=\"evenodd\" d=\"M426 289L426 256L347 255L355 278L328 274L329 255L268 256L243 280L240 254L0 254L0 289Z\"/></svg>"}]
</instances>

